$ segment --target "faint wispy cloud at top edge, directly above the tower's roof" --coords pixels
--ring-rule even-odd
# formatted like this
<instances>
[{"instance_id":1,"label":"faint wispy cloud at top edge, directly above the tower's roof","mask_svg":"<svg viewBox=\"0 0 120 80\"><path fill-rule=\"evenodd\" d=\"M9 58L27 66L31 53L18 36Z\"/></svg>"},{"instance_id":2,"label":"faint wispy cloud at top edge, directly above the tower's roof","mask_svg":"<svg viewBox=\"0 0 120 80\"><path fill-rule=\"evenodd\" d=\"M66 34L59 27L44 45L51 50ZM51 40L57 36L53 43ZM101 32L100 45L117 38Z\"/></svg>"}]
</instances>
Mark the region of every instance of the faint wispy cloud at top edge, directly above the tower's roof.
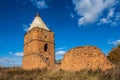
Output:
<instances>
[{"instance_id":1,"label":"faint wispy cloud at top edge, directly above the tower's roof","mask_svg":"<svg viewBox=\"0 0 120 80\"><path fill-rule=\"evenodd\" d=\"M45 0L30 0L30 1L38 9L48 8Z\"/></svg>"}]
</instances>

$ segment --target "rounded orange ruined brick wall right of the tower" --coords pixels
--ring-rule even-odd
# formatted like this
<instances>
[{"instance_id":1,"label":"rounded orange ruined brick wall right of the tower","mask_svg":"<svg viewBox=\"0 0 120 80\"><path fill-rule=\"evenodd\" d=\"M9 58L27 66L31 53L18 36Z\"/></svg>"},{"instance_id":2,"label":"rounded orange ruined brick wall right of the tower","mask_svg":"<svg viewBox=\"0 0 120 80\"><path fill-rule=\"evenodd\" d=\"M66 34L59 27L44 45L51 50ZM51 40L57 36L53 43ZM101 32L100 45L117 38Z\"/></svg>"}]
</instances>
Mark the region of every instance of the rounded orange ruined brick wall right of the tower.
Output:
<instances>
[{"instance_id":1,"label":"rounded orange ruined brick wall right of the tower","mask_svg":"<svg viewBox=\"0 0 120 80\"><path fill-rule=\"evenodd\" d=\"M76 47L69 50L61 63L61 69L65 71L79 70L107 70L111 69L113 64L106 56L94 46Z\"/></svg>"}]
</instances>

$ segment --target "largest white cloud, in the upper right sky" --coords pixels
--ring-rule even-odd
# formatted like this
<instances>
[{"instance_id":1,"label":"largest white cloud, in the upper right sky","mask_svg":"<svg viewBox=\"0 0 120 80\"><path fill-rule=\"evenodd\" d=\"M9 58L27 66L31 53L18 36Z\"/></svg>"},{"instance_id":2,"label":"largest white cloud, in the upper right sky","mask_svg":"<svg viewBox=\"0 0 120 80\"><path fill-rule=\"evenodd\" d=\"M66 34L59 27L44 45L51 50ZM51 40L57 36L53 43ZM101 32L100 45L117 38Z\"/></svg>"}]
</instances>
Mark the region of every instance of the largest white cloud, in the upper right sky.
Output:
<instances>
[{"instance_id":1,"label":"largest white cloud, in the upper right sky","mask_svg":"<svg viewBox=\"0 0 120 80\"><path fill-rule=\"evenodd\" d=\"M115 0L73 0L75 11L80 16L79 25L85 25L95 22L99 19L105 9L111 8L115 4ZM109 16L112 16L112 11ZM103 22L106 22L103 19Z\"/></svg>"}]
</instances>

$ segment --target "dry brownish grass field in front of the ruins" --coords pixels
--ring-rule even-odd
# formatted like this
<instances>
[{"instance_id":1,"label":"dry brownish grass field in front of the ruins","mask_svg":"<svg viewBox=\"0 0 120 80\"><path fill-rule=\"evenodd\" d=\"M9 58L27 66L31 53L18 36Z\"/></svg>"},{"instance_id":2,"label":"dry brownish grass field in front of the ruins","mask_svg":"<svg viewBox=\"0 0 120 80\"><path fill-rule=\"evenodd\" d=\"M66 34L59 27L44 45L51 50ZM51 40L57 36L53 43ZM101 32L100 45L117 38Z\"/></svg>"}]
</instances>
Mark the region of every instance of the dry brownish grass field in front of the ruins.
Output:
<instances>
[{"instance_id":1,"label":"dry brownish grass field in front of the ruins","mask_svg":"<svg viewBox=\"0 0 120 80\"><path fill-rule=\"evenodd\" d=\"M15 67L0 67L0 80L120 80L120 65L105 72L100 70L66 72L47 69L26 71Z\"/></svg>"}]
</instances>

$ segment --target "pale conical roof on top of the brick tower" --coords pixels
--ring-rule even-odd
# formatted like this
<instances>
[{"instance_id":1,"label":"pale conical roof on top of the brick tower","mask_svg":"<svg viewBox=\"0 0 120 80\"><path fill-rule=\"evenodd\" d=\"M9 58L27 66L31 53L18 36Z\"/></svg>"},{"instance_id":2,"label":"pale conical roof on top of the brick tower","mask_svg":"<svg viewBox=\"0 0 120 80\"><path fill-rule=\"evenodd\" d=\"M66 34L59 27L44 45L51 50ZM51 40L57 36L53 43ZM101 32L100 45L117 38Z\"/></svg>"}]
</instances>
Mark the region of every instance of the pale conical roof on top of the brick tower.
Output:
<instances>
[{"instance_id":1,"label":"pale conical roof on top of the brick tower","mask_svg":"<svg viewBox=\"0 0 120 80\"><path fill-rule=\"evenodd\" d=\"M38 13L37 13L36 17L34 18L30 28L28 29L28 31L31 30L34 27L38 27L38 28L49 30L48 27L45 25L45 23L42 21L42 19L39 16Z\"/></svg>"}]
</instances>

